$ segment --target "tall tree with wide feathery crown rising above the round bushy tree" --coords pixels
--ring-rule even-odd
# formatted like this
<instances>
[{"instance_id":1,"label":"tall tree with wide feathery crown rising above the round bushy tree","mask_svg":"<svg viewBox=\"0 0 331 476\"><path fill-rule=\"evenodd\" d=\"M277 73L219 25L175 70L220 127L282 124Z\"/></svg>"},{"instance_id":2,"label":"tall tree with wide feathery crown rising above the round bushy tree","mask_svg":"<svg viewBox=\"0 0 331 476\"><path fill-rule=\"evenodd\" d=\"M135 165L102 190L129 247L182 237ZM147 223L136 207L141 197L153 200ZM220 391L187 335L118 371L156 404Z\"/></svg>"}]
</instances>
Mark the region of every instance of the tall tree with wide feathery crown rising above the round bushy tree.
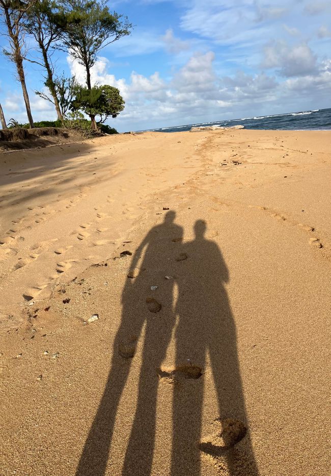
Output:
<instances>
[{"instance_id":1,"label":"tall tree with wide feathery crown rising above the round bushy tree","mask_svg":"<svg viewBox=\"0 0 331 476\"><path fill-rule=\"evenodd\" d=\"M129 35L132 24L127 17L111 13L106 0L60 0L66 26L63 46L86 70L86 84L91 85L91 68L102 48Z\"/></svg>"}]
</instances>

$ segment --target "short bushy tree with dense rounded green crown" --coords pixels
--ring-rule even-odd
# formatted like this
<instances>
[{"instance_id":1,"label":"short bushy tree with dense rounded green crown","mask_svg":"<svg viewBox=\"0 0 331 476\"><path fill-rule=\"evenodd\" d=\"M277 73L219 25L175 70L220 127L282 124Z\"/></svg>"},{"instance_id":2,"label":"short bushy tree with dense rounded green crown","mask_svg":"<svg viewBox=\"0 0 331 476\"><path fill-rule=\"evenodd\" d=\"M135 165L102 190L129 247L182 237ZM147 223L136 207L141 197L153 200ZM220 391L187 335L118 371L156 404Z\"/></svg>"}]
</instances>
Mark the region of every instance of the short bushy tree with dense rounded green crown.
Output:
<instances>
[{"instance_id":1,"label":"short bushy tree with dense rounded green crown","mask_svg":"<svg viewBox=\"0 0 331 476\"><path fill-rule=\"evenodd\" d=\"M107 84L103 86L94 86L93 88L77 88L76 97L72 102L71 110L81 110L91 119L91 127L94 131L98 130L96 116L100 119L98 122L112 116L117 117L124 109L124 99L120 91Z\"/></svg>"}]
</instances>

